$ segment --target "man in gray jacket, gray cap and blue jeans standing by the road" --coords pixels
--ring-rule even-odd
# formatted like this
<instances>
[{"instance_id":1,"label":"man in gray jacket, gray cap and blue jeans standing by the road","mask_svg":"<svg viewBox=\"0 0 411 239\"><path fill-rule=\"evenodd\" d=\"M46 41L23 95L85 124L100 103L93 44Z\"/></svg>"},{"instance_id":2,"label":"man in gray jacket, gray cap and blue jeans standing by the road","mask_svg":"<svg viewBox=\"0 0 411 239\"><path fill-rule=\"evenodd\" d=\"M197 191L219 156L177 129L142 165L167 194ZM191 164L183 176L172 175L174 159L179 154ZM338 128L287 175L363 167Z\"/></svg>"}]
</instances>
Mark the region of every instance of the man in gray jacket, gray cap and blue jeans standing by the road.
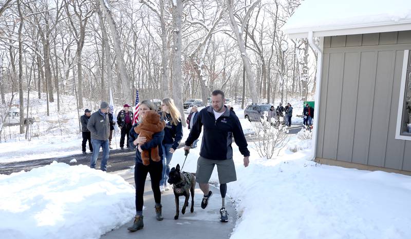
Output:
<instances>
[{"instance_id":1,"label":"man in gray jacket, gray cap and blue jeans standing by the road","mask_svg":"<svg viewBox=\"0 0 411 239\"><path fill-rule=\"evenodd\" d=\"M107 171L107 161L109 153L108 136L110 135L110 121L108 119L108 103L102 102L100 109L91 114L87 123L87 129L91 132L91 144L93 153L90 160L90 168L96 167L97 157L99 156L100 147L103 149L103 158L100 169Z\"/></svg>"}]
</instances>

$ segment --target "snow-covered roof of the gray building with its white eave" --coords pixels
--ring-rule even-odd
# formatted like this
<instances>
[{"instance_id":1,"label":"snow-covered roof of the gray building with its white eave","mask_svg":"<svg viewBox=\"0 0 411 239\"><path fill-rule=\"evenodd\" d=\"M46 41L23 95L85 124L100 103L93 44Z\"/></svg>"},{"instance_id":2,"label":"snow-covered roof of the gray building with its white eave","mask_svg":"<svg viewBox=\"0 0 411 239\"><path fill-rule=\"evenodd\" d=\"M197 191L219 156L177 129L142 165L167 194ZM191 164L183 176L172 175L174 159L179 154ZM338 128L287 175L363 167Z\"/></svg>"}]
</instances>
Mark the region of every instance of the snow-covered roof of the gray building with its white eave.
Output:
<instances>
[{"instance_id":1,"label":"snow-covered roof of the gray building with its white eave","mask_svg":"<svg viewBox=\"0 0 411 239\"><path fill-rule=\"evenodd\" d=\"M283 30L291 38L411 30L409 0L306 0Z\"/></svg>"}]
</instances>

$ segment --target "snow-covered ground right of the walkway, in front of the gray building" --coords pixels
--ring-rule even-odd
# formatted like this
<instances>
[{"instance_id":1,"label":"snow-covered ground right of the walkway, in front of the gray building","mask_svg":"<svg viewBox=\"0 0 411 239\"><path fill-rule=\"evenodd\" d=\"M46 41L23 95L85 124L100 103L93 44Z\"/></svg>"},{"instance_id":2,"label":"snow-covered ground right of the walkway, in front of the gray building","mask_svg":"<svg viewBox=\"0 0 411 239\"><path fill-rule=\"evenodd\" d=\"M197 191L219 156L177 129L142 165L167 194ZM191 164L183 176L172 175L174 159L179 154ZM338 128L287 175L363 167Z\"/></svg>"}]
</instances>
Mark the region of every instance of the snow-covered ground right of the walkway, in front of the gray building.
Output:
<instances>
[{"instance_id":1,"label":"snow-covered ground right of the walkway, in front of the gray building","mask_svg":"<svg viewBox=\"0 0 411 239\"><path fill-rule=\"evenodd\" d=\"M233 146L237 181L228 195L239 218L232 239L409 238L411 176L319 165L310 161L311 140L293 136L288 145L267 160L250 143L247 168ZM297 152L287 149L295 145ZM196 171L198 155L190 151L184 171ZM179 149L171 164L183 162ZM218 184L216 169L211 182Z\"/></svg>"}]
</instances>

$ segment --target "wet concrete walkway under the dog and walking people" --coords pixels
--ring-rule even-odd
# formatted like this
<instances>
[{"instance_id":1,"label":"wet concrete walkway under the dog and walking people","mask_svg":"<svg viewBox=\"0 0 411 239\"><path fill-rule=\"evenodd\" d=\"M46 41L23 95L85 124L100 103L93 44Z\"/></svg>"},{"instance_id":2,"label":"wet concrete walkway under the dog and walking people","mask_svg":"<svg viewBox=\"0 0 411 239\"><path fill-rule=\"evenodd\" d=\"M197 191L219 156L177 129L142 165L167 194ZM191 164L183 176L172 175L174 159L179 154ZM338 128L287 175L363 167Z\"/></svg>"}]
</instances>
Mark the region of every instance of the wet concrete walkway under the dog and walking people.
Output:
<instances>
[{"instance_id":1,"label":"wet concrete walkway under the dog and walking people","mask_svg":"<svg viewBox=\"0 0 411 239\"><path fill-rule=\"evenodd\" d=\"M116 172L114 172L116 173ZM128 183L134 184L134 172L117 172ZM144 192L144 228L136 232L129 232L127 227L133 224L134 218L117 230L110 231L101 236L102 239L122 239L122 238L230 238L235 226L237 213L231 204L231 200L226 198L226 209L229 213L229 222L219 221L219 210L221 208L221 195L219 189L210 187L213 195L210 198L206 209L201 209L202 192L196 184L194 196L194 212L190 212L191 197L189 207L185 214L181 213L181 206L184 204L184 197L180 197L180 216L174 220L176 206L173 190L165 191L161 194L161 204L163 206L163 221L157 221L154 209L154 197L151 190L151 182L147 177Z\"/></svg>"}]
</instances>

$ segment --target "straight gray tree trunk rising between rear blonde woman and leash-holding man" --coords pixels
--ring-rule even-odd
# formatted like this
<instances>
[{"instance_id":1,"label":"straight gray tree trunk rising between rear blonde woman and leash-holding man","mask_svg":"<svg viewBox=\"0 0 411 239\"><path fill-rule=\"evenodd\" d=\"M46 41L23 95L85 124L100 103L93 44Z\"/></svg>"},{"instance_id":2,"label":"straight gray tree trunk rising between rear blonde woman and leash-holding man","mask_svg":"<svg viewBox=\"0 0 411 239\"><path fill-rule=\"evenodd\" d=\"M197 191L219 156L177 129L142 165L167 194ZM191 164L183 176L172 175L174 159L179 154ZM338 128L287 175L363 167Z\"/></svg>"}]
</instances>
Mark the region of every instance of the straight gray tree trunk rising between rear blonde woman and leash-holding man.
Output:
<instances>
[{"instance_id":1,"label":"straight gray tree trunk rising between rear blonde woman and leash-holding man","mask_svg":"<svg viewBox=\"0 0 411 239\"><path fill-rule=\"evenodd\" d=\"M174 103L181 113L181 124L185 127L185 115L182 101L181 82L181 15L182 0L174 0L176 5L172 7L173 13L173 98Z\"/></svg>"}]
</instances>

